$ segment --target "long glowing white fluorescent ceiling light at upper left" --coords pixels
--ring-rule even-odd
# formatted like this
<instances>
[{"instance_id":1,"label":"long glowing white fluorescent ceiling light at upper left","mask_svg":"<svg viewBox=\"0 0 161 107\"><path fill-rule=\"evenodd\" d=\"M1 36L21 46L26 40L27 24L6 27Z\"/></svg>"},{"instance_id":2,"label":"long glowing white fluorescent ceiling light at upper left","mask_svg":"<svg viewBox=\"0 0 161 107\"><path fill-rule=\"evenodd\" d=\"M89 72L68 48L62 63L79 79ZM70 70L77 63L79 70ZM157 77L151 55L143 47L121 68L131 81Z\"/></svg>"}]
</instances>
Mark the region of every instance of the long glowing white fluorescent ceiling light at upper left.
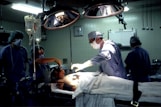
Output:
<instances>
[{"instance_id":1,"label":"long glowing white fluorescent ceiling light at upper left","mask_svg":"<svg viewBox=\"0 0 161 107\"><path fill-rule=\"evenodd\" d=\"M11 8L15 10L31 13L31 14L38 14L43 11L42 8L35 7L28 4L22 4L22 3L17 3L17 4L14 3L12 4Z\"/></svg>"}]
</instances>

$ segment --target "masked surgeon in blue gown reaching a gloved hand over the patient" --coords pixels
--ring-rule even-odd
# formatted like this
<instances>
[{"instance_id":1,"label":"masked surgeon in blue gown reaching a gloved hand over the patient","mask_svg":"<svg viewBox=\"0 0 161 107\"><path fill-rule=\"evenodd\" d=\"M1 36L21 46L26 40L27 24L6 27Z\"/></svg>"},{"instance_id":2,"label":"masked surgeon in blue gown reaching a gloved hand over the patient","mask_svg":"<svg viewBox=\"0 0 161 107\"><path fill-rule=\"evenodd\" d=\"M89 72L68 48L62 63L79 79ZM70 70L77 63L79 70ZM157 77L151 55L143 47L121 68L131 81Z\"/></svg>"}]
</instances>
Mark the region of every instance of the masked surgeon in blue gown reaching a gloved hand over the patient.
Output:
<instances>
[{"instance_id":1,"label":"masked surgeon in blue gown reaching a gloved hand over the patient","mask_svg":"<svg viewBox=\"0 0 161 107\"><path fill-rule=\"evenodd\" d=\"M76 68L75 71L77 72L98 64L100 72L104 72L108 76L126 78L127 75L119 47L111 40L104 40L103 34L98 31L90 32L88 40L92 48L98 49L99 53L82 64L73 64L71 69Z\"/></svg>"}]
</instances>

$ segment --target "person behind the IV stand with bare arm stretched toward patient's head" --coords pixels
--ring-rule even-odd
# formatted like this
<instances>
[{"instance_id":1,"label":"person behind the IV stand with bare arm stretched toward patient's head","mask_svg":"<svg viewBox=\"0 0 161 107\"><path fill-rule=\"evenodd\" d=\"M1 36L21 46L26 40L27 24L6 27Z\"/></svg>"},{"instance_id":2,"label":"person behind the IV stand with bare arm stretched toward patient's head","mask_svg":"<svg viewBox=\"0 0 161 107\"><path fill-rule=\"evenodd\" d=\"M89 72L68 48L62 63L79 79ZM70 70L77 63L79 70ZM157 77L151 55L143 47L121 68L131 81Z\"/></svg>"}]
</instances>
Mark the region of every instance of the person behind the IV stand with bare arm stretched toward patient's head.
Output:
<instances>
[{"instance_id":1,"label":"person behind the IV stand with bare arm stretched toward patient's head","mask_svg":"<svg viewBox=\"0 0 161 107\"><path fill-rule=\"evenodd\" d=\"M35 61L34 61L34 55L35 54ZM31 49L31 60L29 63L29 72L30 76L32 77L34 74L34 64L35 63L35 73L36 73L36 83L48 83L50 82L49 79L49 72L50 72L50 66L49 62L56 62L58 66L61 66L61 60L58 58L46 58L45 57L45 49L42 46L35 46L35 52L33 52L33 49Z\"/></svg>"}]
</instances>

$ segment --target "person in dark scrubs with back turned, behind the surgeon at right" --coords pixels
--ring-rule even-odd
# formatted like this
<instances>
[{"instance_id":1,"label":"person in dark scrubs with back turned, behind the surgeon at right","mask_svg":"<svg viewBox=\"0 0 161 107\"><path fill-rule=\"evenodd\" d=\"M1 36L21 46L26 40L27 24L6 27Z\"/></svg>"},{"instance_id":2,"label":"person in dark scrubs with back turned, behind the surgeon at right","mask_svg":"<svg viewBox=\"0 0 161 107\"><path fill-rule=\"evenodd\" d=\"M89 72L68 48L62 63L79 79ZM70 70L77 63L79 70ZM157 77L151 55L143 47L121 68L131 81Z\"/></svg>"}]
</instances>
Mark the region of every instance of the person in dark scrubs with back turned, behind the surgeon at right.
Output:
<instances>
[{"instance_id":1,"label":"person in dark scrubs with back turned, behind the surgeon at right","mask_svg":"<svg viewBox=\"0 0 161 107\"><path fill-rule=\"evenodd\" d=\"M151 63L149 53L141 47L142 43L137 36L130 38L130 46L132 50L125 58L126 71L130 74L130 78L137 82L149 82L149 73L151 71Z\"/></svg>"}]
</instances>

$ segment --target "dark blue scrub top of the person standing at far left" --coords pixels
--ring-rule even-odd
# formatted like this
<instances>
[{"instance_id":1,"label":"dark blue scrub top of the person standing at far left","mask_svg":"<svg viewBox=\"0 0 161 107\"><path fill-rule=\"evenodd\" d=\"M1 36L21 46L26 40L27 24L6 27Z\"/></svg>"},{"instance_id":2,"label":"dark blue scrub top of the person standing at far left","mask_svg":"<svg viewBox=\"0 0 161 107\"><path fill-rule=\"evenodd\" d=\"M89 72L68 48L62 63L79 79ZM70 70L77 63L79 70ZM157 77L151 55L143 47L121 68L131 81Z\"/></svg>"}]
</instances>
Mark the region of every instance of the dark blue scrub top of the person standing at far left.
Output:
<instances>
[{"instance_id":1,"label":"dark blue scrub top of the person standing at far left","mask_svg":"<svg viewBox=\"0 0 161 107\"><path fill-rule=\"evenodd\" d=\"M12 48L10 44L6 45L0 51L0 61L1 70L9 82L19 82L22 77L26 76L28 62L26 48Z\"/></svg>"}]
</instances>

